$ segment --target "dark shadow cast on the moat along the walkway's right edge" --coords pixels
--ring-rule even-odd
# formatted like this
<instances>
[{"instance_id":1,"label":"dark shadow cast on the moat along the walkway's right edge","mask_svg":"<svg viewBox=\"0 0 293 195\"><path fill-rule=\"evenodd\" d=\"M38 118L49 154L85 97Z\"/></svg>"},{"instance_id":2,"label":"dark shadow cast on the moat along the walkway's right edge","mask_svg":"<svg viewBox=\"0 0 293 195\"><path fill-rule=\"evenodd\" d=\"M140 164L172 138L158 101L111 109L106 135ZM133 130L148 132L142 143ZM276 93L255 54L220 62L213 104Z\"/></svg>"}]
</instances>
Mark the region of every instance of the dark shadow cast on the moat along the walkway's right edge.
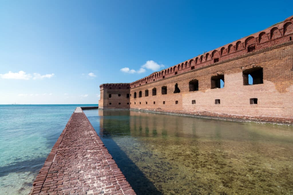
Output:
<instances>
[{"instance_id":1,"label":"dark shadow cast on the moat along the walkway's right edge","mask_svg":"<svg viewBox=\"0 0 293 195\"><path fill-rule=\"evenodd\" d=\"M107 118L108 116L105 116ZM128 116L125 116L128 117ZM99 116L99 118L103 118L103 116ZM112 120L113 121L112 117ZM95 128L96 132L102 139L103 143L107 147L109 153L113 156L113 159L117 163L118 167L122 171L122 173L125 175L126 180L129 182L131 185L132 189L137 193L137 194L162 194L154 184L144 175L144 173L135 165L135 163L128 158L127 154L116 144L116 142L112 138L113 132L111 130L107 130L107 128L101 127L100 131L100 122L99 120L96 120L97 117L88 117L89 121ZM104 120L105 121L105 120ZM110 120L108 120L110 122ZM125 122L125 120L124 120ZM108 126L109 124L104 124L105 126ZM124 125L129 125L124 123ZM119 128L115 128L115 134L119 134ZM121 131L121 136L125 136L125 131Z\"/></svg>"}]
</instances>

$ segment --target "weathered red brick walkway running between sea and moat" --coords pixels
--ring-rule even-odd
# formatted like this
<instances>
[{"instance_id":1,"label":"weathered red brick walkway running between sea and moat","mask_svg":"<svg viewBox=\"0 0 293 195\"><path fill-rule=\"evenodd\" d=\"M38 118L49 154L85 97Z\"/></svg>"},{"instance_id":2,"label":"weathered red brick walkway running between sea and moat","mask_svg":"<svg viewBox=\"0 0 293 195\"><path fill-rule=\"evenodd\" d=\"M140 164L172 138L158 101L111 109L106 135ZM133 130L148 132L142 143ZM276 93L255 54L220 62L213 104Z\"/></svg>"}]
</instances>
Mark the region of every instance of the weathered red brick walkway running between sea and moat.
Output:
<instances>
[{"instance_id":1,"label":"weathered red brick walkway running between sea and moat","mask_svg":"<svg viewBox=\"0 0 293 195\"><path fill-rule=\"evenodd\" d=\"M86 115L73 113L31 194L135 194Z\"/></svg>"}]
</instances>

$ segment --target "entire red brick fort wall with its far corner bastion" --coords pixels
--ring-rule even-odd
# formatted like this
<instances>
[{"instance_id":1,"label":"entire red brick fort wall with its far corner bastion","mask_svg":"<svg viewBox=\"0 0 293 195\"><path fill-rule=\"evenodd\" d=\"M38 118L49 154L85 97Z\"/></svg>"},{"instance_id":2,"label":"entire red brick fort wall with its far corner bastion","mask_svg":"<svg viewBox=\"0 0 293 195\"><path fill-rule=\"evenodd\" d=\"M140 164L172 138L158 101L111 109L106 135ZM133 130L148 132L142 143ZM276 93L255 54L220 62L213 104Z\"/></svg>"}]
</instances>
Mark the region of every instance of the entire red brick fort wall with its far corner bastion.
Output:
<instances>
[{"instance_id":1,"label":"entire red brick fort wall with its far corner bastion","mask_svg":"<svg viewBox=\"0 0 293 195\"><path fill-rule=\"evenodd\" d=\"M213 113L292 121L292 38L293 16L137 81L101 84L99 109Z\"/></svg>"}]
</instances>

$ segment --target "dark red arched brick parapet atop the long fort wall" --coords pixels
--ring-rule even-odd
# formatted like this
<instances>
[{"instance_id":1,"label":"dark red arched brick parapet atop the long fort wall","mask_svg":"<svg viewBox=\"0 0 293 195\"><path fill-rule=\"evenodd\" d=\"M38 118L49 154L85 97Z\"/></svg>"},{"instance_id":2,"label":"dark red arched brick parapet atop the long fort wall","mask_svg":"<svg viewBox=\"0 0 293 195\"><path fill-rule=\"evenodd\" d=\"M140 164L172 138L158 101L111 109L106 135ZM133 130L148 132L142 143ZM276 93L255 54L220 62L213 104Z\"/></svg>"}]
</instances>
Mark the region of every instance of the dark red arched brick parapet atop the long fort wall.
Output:
<instances>
[{"instance_id":1,"label":"dark red arched brick parapet atop the long fort wall","mask_svg":"<svg viewBox=\"0 0 293 195\"><path fill-rule=\"evenodd\" d=\"M285 43L292 40L293 32L293 16L284 21L272 25L271 27L243 37L232 43L218 47L217 49L208 51L202 55L195 56L192 59L183 61L177 65L166 68L164 70L154 72L151 75L130 83L130 88L138 87L171 77L189 70L201 68L213 63L221 63L223 61L242 56L244 54L268 48L277 44Z\"/></svg>"}]
</instances>

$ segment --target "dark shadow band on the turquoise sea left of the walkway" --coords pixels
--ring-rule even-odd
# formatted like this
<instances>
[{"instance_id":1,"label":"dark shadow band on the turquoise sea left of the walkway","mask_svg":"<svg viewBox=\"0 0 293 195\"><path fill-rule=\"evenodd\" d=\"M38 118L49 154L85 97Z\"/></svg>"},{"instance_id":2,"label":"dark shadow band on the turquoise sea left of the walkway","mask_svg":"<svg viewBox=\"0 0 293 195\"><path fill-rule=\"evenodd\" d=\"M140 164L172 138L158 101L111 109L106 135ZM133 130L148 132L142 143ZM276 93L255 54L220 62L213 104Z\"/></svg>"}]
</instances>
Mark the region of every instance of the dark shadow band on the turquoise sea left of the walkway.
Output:
<instances>
[{"instance_id":1,"label":"dark shadow band on the turquoise sea left of the walkway","mask_svg":"<svg viewBox=\"0 0 293 195\"><path fill-rule=\"evenodd\" d=\"M0 177L4 177L8 175L9 173L13 173L13 172L38 173L38 171L44 165L45 160L46 160L46 157L39 157L39 158L30 159L30 160L17 161L17 162L2 166L0 167Z\"/></svg>"}]
</instances>

